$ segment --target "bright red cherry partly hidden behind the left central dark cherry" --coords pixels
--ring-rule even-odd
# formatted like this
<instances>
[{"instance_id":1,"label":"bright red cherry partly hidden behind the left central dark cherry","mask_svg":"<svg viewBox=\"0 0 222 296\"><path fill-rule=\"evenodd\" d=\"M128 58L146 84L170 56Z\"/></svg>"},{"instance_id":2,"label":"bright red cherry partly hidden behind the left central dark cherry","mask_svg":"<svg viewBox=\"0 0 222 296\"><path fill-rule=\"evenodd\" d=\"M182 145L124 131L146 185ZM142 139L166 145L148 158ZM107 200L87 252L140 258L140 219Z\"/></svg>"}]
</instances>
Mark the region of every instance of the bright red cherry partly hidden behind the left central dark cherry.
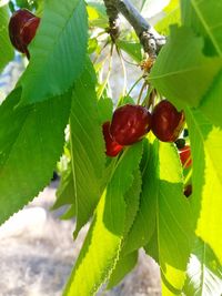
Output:
<instances>
[{"instance_id":1,"label":"bright red cherry partly hidden behind the left central dark cherry","mask_svg":"<svg viewBox=\"0 0 222 296\"><path fill-rule=\"evenodd\" d=\"M108 156L114 157L123 149L122 145L118 144L110 136L110 122L107 121L102 124L102 132L105 141L105 153Z\"/></svg>"}]
</instances>

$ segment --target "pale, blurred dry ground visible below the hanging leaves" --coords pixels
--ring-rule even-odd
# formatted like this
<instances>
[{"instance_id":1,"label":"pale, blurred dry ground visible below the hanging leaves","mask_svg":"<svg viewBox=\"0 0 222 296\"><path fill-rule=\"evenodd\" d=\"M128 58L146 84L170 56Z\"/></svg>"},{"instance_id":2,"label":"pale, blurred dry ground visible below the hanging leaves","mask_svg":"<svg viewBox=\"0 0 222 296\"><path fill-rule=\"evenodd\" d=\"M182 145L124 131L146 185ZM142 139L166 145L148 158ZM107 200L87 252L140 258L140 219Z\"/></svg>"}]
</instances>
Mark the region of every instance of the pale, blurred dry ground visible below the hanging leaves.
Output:
<instances>
[{"instance_id":1,"label":"pale, blurred dry ground visible below the hanging leaves","mask_svg":"<svg viewBox=\"0 0 222 296\"><path fill-rule=\"evenodd\" d=\"M51 212L57 182L0 227L0 296L60 296L83 237L72 241L73 221ZM138 266L105 296L159 296L159 268L142 252ZM80 295L81 296L81 295Z\"/></svg>"}]
</instances>

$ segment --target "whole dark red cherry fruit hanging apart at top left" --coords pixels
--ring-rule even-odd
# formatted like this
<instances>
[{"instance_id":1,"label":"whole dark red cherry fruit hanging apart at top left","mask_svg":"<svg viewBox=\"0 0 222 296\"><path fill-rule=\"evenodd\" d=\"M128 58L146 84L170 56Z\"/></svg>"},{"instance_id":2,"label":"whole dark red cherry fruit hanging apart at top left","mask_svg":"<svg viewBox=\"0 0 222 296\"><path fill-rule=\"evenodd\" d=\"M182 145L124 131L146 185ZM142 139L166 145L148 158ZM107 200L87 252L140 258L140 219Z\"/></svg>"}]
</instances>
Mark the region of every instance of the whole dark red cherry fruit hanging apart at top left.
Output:
<instances>
[{"instance_id":1,"label":"whole dark red cherry fruit hanging apart at top left","mask_svg":"<svg viewBox=\"0 0 222 296\"><path fill-rule=\"evenodd\" d=\"M28 45L36 35L40 18L27 9L16 11L9 22L9 37L12 45L30 59Z\"/></svg>"}]
</instances>

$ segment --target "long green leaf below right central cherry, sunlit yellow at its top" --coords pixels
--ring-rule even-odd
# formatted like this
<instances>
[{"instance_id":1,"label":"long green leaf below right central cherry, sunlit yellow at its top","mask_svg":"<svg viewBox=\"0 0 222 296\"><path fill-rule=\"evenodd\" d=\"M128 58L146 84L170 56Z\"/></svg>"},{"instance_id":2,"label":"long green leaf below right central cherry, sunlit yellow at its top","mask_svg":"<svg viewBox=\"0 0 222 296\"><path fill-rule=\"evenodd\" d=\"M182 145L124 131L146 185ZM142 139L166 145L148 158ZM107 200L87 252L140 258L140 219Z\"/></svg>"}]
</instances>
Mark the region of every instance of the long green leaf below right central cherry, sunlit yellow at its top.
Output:
<instances>
[{"instance_id":1,"label":"long green leaf below right central cherry, sunlit yellow at its top","mask_svg":"<svg viewBox=\"0 0 222 296\"><path fill-rule=\"evenodd\" d=\"M148 200L152 198L152 202L143 221L141 220L141 227L151 222L148 217L154 213L154 220L149 224L152 235L150 239L152 238L152 246L157 246L154 258L159 261L161 268L163 295L170 295L179 293L185 280L185 268L193 238L192 215L189 201L183 195L178 152L172 144L157 140L151 149L153 151L150 155L155 157L157 164L152 172L154 185L147 196ZM150 254L149 245L147 251Z\"/></svg>"}]
</instances>

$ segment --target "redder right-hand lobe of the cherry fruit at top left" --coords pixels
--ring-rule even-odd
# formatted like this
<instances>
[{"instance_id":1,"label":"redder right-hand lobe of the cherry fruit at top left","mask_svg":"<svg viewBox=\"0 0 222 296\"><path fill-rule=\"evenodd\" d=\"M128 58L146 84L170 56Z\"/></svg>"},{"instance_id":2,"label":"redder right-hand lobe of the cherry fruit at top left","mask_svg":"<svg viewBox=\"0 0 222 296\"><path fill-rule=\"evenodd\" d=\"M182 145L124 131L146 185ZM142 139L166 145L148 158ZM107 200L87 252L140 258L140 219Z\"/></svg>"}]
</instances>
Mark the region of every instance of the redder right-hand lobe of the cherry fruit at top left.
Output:
<instances>
[{"instance_id":1,"label":"redder right-hand lobe of the cherry fruit at top left","mask_svg":"<svg viewBox=\"0 0 222 296\"><path fill-rule=\"evenodd\" d=\"M20 30L21 42L23 44L23 48L26 50L28 58L29 58L29 51L27 47L34 38L39 23L40 23L40 18L34 17L28 20L22 27L22 29Z\"/></svg>"}]
</instances>

